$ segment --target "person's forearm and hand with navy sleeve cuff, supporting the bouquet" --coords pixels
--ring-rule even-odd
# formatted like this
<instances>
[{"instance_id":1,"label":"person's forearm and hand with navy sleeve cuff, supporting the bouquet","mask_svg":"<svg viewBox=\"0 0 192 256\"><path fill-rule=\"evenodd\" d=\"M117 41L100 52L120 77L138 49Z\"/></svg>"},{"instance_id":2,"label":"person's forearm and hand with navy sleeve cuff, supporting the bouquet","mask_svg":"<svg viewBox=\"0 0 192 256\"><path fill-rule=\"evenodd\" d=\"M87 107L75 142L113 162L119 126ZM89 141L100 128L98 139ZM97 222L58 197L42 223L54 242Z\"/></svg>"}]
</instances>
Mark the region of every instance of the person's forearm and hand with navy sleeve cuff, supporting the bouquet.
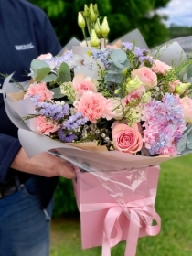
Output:
<instances>
[{"instance_id":1,"label":"person's forearm and hand with navy sleeve cuff, supporting the bouquet","mask_svg":"<svg viewBox=\"0 0 192 256\"><path fill-rule=\"evenodd\" d=\"M61 162L59 158L43 152L32 158L28 158L18 139L0 133L0 183L10 167L29 174L39 176L75 176L72 165Z\"/></svg>"}]
</instances>

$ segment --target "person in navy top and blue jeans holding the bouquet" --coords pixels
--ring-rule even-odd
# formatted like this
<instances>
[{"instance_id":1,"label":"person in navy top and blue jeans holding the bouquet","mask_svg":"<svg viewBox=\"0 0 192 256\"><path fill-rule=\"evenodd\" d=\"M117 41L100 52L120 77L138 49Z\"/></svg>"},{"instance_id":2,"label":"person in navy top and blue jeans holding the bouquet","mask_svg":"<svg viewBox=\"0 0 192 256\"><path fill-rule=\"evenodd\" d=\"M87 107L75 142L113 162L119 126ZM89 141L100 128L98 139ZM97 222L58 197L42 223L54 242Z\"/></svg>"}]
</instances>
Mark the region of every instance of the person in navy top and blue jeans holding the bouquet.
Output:
<instances>
[{"instance_id":1,"label":"person in navy top and blue jeans holding the bouquet","mask_svg":"<svg viewBox=\"0 0 192 256\"><path fill-rule=\"evenodd\" d=\"M16 71L17 81L28 80L32 59L61 49L48 17L25 0L0 0L0 37L0 73ZM48 153L27 157L2 93L0 115L1 256L48 256L52 195L58 177L72 178L73 169Z\"/></svg>"}]
</instances>

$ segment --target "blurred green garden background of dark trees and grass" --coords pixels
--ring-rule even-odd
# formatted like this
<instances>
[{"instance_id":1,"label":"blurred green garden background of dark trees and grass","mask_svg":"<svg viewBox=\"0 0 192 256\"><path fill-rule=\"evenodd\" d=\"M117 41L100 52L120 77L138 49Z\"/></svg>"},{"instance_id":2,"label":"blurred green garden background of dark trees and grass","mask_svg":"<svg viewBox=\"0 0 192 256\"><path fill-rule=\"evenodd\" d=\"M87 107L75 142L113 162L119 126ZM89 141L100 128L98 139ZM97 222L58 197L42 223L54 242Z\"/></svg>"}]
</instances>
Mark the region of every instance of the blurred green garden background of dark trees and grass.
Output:
<instances>
[{"instance_id":1,"label":"blurred green garden background of dark trees and grass","mask_svg":"<svg viewBox=\"0 0 192 256\"><path fill-rule=\"evenodd\" d=\"M189 2L191 0L188 0ZM48 15L61 45L70 38L82 40L77 25L78 12L84 5L97 4L100 16L107 16L111 27L109 40L138 28L147 45L154 48L176 37L192 35L192 24L165 25L168 16L159 8L169 0L30 0ZM180 8L183 6L181 5ZM192 155L161 165L155 208L162 218L161 233L139 240L137 256L192 256ZM80 217L70 180L59 178L55 191L51 224L51 256L96 256L101 247L86 251L80 246ZM112 256L123 255L124 242L112 248Z\"/></svg>"}]
</instances>

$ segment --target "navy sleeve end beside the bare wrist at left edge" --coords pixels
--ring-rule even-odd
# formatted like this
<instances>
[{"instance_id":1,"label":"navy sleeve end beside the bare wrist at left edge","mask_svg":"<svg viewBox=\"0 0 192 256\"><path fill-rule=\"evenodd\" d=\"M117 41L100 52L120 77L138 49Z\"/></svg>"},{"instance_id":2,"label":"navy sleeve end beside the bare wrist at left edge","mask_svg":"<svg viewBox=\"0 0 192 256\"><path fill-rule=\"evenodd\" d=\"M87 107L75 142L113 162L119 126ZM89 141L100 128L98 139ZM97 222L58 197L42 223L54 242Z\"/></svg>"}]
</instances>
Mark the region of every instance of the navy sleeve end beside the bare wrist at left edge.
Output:
<instances>
[{"instance_id":1,"label":"navy sleeve end beside the bare wrist at left edge","mask_svg":"<svg viewBox=\"0 0 192 256\"><path fill-rule=\"evenodd\" d=\"M0 133L0 183L5 181L9 167L20 148L18 139Z\"/></svg>"}]
</instances>

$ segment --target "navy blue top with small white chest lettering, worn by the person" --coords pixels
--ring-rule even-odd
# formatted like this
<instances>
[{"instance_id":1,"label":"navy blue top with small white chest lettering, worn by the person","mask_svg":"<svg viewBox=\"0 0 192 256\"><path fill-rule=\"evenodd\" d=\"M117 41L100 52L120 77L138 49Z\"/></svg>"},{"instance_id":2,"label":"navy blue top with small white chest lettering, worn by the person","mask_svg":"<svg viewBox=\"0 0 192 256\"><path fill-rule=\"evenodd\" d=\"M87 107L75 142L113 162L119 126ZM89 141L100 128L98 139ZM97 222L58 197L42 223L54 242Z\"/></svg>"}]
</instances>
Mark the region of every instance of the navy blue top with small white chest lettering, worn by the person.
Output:
<instances>
[{"instance_id":1,"label":"navy blue top with small white chest lettering, worn by the person","mask_svg":"<svg viewBox=\"0 0 192 256\"><path fill-rule=\"evenodd\" d=\"M30 62L40 54L57 55L61 49L46 14L26 0L0 0L0 73L11 74L15 79L28 80ZM0 79L3 84L3 79ZM21 145L17 139L17 128L5 113L3 95L0 94L0 183L4 183L13 172L10 165ZM16 171L14 171L16 173ZM17 172L22 175L22 172ZM56 187L58 177L36 176L42 207Z\"/></svg>"}]
</instances>

